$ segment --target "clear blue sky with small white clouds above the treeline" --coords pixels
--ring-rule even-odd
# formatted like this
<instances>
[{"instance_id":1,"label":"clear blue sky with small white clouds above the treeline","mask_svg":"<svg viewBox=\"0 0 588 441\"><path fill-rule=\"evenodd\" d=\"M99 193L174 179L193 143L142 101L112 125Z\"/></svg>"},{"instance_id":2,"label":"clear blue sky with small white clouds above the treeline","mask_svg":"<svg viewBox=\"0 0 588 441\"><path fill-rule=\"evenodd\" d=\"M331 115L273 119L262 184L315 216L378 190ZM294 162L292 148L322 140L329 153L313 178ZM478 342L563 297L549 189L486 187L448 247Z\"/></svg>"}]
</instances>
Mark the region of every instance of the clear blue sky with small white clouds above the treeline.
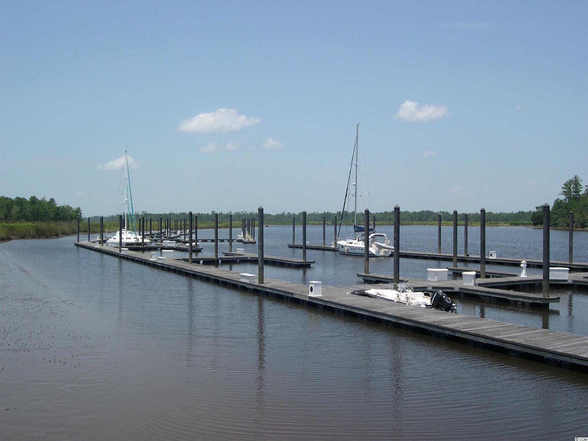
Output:
<instances>
[{"instance_id":1,"label":"clear blue sky with small white clouds above the treeline","mask_svg":"<svg viewBox=\"0 0 588 441\"><path fill-rule=\"evenodd\" d=\"M533 209L588 183L587 24L565 1L4 1L0 193L113 213L128 149L139 211L335 211L361 122L373 211Z\"/></svg>"}]
</instances>

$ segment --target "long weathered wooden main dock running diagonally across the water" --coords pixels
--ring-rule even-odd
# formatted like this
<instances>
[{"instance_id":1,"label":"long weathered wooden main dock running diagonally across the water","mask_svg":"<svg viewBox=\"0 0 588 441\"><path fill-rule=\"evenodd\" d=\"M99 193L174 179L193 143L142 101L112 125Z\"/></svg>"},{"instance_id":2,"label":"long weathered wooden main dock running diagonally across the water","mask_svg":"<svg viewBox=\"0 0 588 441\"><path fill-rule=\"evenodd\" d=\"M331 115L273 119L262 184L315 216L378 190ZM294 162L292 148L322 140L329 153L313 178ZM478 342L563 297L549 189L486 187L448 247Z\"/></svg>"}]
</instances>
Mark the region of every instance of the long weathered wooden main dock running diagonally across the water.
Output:
<instances>
[{"instance_id":1,"label":"long weathered wooden main dock running diagonally across the water","mask_svg":"<svg viewBox=\"0 0 588 441\"><path fill-rule=\"evenodd\" d=\"M149 260L144 253L129 250L127 254L122 254L118 248L96 246L90 242L75 242L75 245L176 274L253 290L319 309L342 312L402 329L588 372L588 337L585 336L347 294L353 290L366 289L369 285L323 286L321 297L309 297L308 286L300 283L266 278L265 283L260 285L257 281L240 280L237 272L214 266L190 264L177 259L158 262Z\"/></svg>"}]
</instances>

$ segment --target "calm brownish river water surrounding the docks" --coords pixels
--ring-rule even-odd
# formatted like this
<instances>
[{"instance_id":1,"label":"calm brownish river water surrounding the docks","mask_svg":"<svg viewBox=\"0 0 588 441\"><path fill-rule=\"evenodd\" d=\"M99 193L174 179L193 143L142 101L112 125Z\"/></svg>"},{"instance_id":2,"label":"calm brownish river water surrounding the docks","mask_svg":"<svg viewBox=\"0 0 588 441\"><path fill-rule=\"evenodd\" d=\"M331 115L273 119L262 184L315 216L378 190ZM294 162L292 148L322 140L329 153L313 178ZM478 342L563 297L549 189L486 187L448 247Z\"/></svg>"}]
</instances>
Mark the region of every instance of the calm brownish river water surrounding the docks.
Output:
<instances>
[{"instance_id":1,"label":"calm brownish river water surrounding the docks","mask_svg":"<svg viewBox=\"0 0 588 441\"><path fill-rule=\"evenodd\" d=\"M265 233L266 254L300 256L285 246L291 227ZM556 233L553 255L565 258L567 235ZM308 240L321 234L309 227ZM444 235L449 251L450 228ZM471 253L475 235L470 228ZM401 237L405 249L436 249L435 227L402 228ZM588 235L574 239L576 259L588 260ZM499 256L540 257L540 230L489 228L487 242ZM213 244L203 245L210 254ZM343 285L363 270L362 258L312 250L308 257L317 261L311 269L266 267L266 275ZM400 273L422 278L447 263L402 259ZM392 272L392 259L370 265ZM187 279L75 248L72 238L0 244L0 277L2 440L588 433L583 373ZM460 313L588 335L588 293L560 295L547 314L455 300Z\"/></svg>"}]
</instances>

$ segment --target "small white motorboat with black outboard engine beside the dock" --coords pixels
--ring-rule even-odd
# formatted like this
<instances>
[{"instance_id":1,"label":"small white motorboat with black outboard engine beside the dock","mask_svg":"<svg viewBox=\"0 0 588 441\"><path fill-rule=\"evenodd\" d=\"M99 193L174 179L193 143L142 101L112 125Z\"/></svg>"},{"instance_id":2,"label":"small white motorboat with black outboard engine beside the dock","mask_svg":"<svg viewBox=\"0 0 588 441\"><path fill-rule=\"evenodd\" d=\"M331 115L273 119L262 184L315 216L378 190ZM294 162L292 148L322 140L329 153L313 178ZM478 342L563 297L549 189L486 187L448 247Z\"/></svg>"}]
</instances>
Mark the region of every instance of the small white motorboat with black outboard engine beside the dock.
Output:
<instances>
[{"instance_id":1,"label":"small white motorboat with black outboard engine beside the dock","mask_svg":"<svg viewBox=\"0 0 588 441\"><path fill-rule=\"evenodd\" d=\"M457 306L449 297L440 289L432 293L427 291L417 291L412 287L410 282L403 282L397 285L397 289L366 289L348 292L372 297L374 299L387 300L389 302L404 303L405 305L418 306L420 308L433 308L446 312L457 312Z\"/></svg>"}]
</instances>

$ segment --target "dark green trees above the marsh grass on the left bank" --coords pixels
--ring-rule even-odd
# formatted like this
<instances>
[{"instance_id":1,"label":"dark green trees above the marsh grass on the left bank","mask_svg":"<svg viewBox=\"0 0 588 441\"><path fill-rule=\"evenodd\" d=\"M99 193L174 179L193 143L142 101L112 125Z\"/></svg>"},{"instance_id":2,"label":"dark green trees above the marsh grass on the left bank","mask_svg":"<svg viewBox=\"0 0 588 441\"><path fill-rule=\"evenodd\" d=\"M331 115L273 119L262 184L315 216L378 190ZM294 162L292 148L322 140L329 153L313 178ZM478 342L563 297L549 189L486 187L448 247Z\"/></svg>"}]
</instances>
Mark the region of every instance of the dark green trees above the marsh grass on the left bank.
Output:
<instances>
[{"instance_id":1,"label":"dark green trees above the marsh grass on the left bank","mask_svg":"<svg viewBox=\"0 0 588 441\"><path fill-rule=\"evenodd\" d=\"M47 201L36 196L25 198L7 198L0 196L0 220L15 222L34 220L75 220L82 215L82 210L69 205L57 205L55 199Z\"/></svg>"}]
</instances>

